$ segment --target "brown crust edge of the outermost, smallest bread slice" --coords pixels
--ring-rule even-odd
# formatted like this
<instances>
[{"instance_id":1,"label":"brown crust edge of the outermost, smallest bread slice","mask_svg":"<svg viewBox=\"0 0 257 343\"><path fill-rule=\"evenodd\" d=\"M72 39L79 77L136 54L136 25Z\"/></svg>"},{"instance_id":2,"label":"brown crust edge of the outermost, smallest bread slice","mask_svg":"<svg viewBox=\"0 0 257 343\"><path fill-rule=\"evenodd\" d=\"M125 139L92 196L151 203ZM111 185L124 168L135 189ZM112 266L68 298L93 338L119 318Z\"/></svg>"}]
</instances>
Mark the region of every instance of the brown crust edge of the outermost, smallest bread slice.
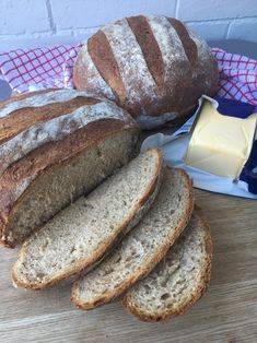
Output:
<instances>
[{"instance_id":1,"label":"brown crust edge of the outermost, smallest bread slice","mask_svg":"<svg viewBox=\"0 0 257 343\"><path fill-rule=\"evenodd\" d=\"M165 314L144 314L139 307L137 307L135 304L132 304L129 299L129 295L125 296L122 299L122 306L126 310L128 310L130 314L136 316L139 320L147 321L147 322L157 322L161 320L167 320L175 316L183 315L186 312L197 300L199 300L202 295L206 293L211 277L211 261L212 261L212 252L213 252L213 246L212 246L212 239L211 239L211 233L209 224L206 221L206 217L197 205L195 206L195 211L197 212L199 218L201 220L202 227L205 229L205 245L206 245L206 259L205 264L201 270L201 282L199 283L198 287L196 288L195 293L191 294L190 299L187 303L184 303L179 308L176 310L166 311Z\"/></svg>"}]
</instances>

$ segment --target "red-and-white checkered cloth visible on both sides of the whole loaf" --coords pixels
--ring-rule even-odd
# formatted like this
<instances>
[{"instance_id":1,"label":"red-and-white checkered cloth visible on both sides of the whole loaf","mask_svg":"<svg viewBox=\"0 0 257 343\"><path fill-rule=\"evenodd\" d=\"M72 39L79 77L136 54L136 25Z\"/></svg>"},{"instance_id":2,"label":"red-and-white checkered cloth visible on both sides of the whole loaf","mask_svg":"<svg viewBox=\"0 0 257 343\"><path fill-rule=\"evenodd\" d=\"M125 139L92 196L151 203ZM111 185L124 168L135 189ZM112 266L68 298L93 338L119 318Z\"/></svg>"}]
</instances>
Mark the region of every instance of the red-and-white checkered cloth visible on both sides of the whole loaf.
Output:
<instances>
[{"instance_id":1,"label":"red-and-white checkered cloth visible on both sides of the whole loaf","mask_svg":"<svg viewBox=\"0 0 257 343\"><path fill-rule=\"evenodd\" d=\"M58 45L0 54L0 76L20 93L32 88L72 88L73 63L81 46ZM220 71L218 96L257 107L257 61L218 48L211 51Z\"/></svg>"}]
</instances>

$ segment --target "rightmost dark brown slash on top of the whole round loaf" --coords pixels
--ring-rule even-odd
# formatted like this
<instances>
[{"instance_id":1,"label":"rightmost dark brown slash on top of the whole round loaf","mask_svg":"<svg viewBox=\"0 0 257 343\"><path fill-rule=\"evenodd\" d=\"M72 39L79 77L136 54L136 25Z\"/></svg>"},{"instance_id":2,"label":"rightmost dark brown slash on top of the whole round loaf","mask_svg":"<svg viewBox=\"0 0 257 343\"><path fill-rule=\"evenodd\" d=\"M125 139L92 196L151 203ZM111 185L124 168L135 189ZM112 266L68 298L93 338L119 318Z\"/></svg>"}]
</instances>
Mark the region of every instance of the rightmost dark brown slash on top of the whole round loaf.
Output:
<instances>
[{"instance_id":1,"label":"rightmost dark brown slash on top of the whole round loaf","mask_svg":"<svg viewBox=\"0 0 257 343\"><path fill-rule=\"evenodd\" d=\"M184 50L189 60L189 63L194 67L197 61L197 46L195 42L190 38L187 28L183 25L183 23L175 17L167 17L168 22L176 29L178 37L182 40Z\"/></svg>"}]
</instances>

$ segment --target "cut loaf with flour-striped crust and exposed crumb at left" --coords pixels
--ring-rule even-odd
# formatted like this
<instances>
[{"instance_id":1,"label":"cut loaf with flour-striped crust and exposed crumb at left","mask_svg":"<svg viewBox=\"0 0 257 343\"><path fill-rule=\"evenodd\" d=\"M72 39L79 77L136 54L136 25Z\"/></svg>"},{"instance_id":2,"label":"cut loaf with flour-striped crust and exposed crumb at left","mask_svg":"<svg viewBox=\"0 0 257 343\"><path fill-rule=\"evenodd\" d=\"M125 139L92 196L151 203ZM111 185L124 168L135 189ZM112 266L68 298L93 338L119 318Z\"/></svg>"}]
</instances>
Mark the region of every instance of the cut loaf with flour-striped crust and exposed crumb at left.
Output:
<instances>
[{"instance_id":1,"label":"cut loaf with flour-striped crust and exposed crumb at left","mask_svg":"<svg viewBox=\"0 0 257 343\"><path fill-rule=\"evenodd\" d=\"M0 104L0 243L36 227L138 154L140 130L114 103L50 90Z\"/></svg>"}]
</instances>

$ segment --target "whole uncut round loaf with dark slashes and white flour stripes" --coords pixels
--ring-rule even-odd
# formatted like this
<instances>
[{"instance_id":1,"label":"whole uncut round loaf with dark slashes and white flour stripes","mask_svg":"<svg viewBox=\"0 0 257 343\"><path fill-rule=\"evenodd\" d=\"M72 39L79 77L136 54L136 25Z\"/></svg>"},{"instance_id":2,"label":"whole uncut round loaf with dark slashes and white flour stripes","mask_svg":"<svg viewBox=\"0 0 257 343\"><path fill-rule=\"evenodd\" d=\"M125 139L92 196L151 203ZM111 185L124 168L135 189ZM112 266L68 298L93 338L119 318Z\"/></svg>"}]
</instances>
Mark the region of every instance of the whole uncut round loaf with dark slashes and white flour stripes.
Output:
<instances>
[{"instance_id":1,"label":"whole uncut round loaf with dark slashes and white flour stripes","mask_svg":"<svg viewBox=\"0 0 257 343\"><path fill-rule=\"evenodd\" d=\"M217 91L217 61L178 20L138 15L107 24L80 50L75 87L126 108L144 129L188 114Z\"/></svg>"}]
</instances>

